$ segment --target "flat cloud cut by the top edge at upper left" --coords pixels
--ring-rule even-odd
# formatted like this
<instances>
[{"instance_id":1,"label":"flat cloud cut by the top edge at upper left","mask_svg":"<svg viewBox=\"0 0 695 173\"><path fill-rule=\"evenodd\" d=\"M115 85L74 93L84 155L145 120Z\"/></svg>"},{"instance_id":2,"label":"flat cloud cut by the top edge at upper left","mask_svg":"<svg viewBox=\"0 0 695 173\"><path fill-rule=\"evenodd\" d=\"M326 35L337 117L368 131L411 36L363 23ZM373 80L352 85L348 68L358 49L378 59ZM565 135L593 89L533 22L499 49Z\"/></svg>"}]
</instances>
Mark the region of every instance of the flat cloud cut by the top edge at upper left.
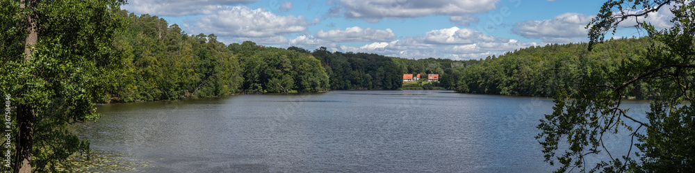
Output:
<instances>
[{"instance_id":1,"label":"flat cloud cut by the top edge at upper left","mask_svg":"<svg viewBox=\"0 0 695 173\"><path fill-rule=\"evenodd\" d=\"M256 1L258 0L130 0L122 8L138 14L161 16L202 15L213 13L216 6L232 6Z\"/></svg>"}]
</instances>

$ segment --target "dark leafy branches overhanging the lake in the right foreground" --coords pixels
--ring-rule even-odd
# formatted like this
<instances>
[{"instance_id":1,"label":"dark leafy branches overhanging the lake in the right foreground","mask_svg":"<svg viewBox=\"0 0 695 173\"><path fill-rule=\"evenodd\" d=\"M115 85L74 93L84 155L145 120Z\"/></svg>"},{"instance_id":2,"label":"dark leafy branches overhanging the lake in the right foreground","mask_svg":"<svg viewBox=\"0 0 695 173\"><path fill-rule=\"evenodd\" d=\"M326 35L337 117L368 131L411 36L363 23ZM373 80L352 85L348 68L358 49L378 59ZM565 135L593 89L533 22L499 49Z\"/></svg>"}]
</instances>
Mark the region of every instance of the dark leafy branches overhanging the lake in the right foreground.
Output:
<instances>
[{"instance_id":1,"label":"dark leafy branches overhanging the lake in the right foreground","mask_svg":"<svg viewBox=\"0 0 695 173\"><path fill-rule=\"evenodd\" d=\"M637 9L637 12L614 13L626 8ZM673 26L656 30L646 22L639 24L655 44L647 44L644 51L635 51L635 56L615 56L612 59L619 60L616 63L600 65L600 71L580 77L575 85L576 92L560 88L556 93L554 111L541 120L538 125L541 133L536 138L543 147L546 161L550 165L556 160L559 163L557 172L574 169L582 172L589 169L590 172L695 170L692 142L695 140L695 93L691 88L695 85L695 3L607 1L587 25L591 26L591 44L587 48L602 52L602 47L614 44L613 41L604 42L603 35L615 31L624 19L648 17L650 12L663 10L673 13ZM653 99L644 118L628 115L628 109L621 106L621 100L629 95ZM616 134L627 135L639 151L632 150L630 145L628 153L610 153L604 140ZM567 145L562 145L564 142ZM585 167L589 154L603 152L610 158Z\"/></svg>"}]
</instances>

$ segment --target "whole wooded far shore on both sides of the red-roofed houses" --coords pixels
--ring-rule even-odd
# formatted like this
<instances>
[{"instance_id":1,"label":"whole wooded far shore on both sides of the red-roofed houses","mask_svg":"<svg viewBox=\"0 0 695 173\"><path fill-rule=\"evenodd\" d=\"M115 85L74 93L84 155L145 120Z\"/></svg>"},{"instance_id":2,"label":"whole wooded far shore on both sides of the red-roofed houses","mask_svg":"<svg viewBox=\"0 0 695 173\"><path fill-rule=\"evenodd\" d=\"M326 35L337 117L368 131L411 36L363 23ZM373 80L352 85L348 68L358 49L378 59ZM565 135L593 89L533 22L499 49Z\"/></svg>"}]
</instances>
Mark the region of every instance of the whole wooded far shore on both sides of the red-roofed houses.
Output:
<instances>
[{"instance_id":1,"label":"whole wooded far shore on both sides of the red-roofed houses","mask_svg":"<svg viewBox=\"0 0 695 173\"><path fill-rule=\"evenodd\" d=\"M189 35L156 16L126 10L120 15L130 21L115 39L124 67L118 69L115 90L102 100L107 103L234 93L398 90L402 74L440 74L432 87L457 92L552 97L560 89L576 93L584 79L605 76L655 44L650 38L621 38L593 51L587 43L548 44L480 60L414 60L325 47L282 49L251 41L225 45L212 33ZM653 97L657 92L648 85L643 81L630 86L626 97Z\"/></svg>"}]
</instances>

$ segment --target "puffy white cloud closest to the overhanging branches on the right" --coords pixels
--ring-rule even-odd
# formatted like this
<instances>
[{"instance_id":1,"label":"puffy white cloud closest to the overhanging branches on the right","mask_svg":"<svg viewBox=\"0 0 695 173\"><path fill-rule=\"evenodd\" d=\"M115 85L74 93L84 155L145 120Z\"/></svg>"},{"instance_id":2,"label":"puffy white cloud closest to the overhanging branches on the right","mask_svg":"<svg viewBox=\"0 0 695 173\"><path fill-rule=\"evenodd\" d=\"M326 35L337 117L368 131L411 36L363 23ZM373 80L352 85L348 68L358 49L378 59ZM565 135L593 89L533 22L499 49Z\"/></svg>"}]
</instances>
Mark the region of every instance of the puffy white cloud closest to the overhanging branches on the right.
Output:
<instances>
[{"instance_id":1,"label":"puffy white cloud closest to the overhanging branches on the right","mask_svg":"<svg viewBox=\"0 0 695 173\"><path fill-rule=\"evenodd\" d=\"M512 32L524 38L539 38L543 42L578 42L587 37L588 30L584 27L591 22L591 18L579 13L564 13L543 21L517 22Z\"/></svg>"}]
</instances>

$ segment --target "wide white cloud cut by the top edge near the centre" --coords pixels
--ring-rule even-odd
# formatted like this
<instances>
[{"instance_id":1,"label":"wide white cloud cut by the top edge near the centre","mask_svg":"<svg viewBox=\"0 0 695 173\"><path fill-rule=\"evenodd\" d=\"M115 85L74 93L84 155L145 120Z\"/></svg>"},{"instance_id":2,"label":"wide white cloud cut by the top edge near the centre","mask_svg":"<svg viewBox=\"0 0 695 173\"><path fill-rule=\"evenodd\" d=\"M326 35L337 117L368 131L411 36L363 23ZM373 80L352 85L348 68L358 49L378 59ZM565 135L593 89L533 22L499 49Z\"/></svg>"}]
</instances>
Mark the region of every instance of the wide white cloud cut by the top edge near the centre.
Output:
<instances>
[{"instance_id":1,"label":"wide white cloud cut by the top edge near the centre","mask_svg":"<svg viewBox=\"0 0 695 173\"><path fill-rule=\"evenodd\" d=\"M379 22L384 18L423 17L427 15L468 16L495 9L499 0L341 0L329 15Z\"/></svg>"}]
</instances>

